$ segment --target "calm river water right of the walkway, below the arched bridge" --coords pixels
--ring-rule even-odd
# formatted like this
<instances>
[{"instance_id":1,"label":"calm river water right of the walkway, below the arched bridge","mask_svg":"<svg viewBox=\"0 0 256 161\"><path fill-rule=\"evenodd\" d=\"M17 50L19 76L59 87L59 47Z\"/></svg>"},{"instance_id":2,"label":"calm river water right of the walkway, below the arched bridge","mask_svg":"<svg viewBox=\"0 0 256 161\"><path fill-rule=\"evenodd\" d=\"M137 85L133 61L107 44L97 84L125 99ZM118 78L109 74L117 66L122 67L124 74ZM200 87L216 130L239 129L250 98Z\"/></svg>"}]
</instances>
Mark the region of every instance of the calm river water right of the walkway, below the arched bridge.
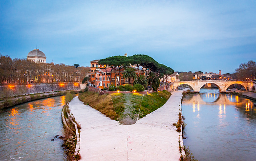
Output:
<instances>
[{"instance_id":1,"label":"calm river water right of the walkway, below the arched bridge","mask_svg":"<svg viewBox=\"0 0 256 161\"><path fill-rule=\"evenodd\" d=\"M184 145L200 161L255 161L255 101L218 89L201 89L182 100Z\"/></svg>"}]
</instances>

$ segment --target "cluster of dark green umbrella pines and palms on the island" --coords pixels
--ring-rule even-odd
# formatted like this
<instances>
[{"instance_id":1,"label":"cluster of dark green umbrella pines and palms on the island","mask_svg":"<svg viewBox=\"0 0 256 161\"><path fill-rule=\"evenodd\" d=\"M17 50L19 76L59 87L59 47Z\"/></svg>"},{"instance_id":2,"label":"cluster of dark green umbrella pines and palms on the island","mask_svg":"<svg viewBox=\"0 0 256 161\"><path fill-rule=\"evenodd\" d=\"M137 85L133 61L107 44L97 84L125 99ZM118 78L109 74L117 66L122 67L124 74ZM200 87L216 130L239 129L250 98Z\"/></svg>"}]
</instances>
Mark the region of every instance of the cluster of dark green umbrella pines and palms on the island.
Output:
<instances>
[{"instance_id":1,"label":"cluster of dark green umbrella pines and palms on the island","mask_svg":"<svg viewBox=\"0 0 256 161\"><path fill-rule=\"evenodd\" d=\"M153 90L157 91L160 86L160 79L167 81L174 70L170 67L158 63L153 58L137 54L130 57L125 56L113 56L105 59L101 59L98 62L103 65L106 70L109 83L111 85L111 74L114 73L115 77L121 76L121 71L124 69L123 78L128 79L129 84L133 80L134 84L141 84L146 88L148 85L152 86ZM107 71L110 68L111 70ZM137 71L137 73L135 72ZM144 76L145 74L145 76ZM119 79L117 79L117 86L121 85Z\"/></svg>"}]
</instances>

